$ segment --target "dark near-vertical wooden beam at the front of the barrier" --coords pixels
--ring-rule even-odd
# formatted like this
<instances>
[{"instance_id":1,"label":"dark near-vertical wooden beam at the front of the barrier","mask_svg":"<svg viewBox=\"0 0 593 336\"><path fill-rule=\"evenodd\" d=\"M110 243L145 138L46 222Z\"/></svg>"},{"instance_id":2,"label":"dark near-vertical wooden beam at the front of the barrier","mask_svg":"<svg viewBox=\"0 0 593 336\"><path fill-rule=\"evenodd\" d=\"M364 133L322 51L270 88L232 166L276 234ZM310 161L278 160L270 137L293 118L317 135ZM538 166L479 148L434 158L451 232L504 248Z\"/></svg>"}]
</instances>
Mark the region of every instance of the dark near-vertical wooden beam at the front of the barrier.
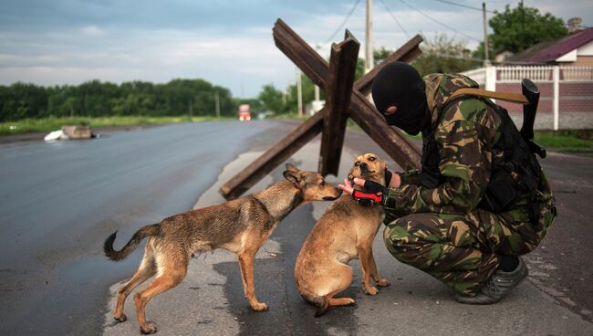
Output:
<instances>
[{"instance_id":1,"label":"dark near-vertical wooden beam at the front of the barrier","mask_svg":"<svg viewBox=\"0 0 593 336\"><path fill-rule=\"evenodd\" d=\"M338 175L339 160L344 145L346 121L360 43L346 30L346 38L332 44L329 74L326 81L326 116L323 119L318 172Z\"/></svg>"}]
</instances>

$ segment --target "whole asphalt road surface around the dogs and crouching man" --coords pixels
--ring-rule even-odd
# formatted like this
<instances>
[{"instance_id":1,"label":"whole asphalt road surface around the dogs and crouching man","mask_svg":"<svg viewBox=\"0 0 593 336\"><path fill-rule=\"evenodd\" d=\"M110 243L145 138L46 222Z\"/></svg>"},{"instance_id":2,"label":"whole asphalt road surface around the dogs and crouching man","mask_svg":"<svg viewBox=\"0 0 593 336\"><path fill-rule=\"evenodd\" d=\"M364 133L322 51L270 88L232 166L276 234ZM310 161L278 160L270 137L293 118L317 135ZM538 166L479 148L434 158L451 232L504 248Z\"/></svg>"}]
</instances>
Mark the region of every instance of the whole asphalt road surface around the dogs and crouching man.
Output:
<instances>
[{"instance_id":1,"label":"whole asphalt road surface around the dogs and crouching man","mask_svg":"<svg viewBox=\"0 0 593 336\"><path fill-rule=\"evenodd\" d=\"M116 264L101 254L104 238L120 230L120 247L140 226L188 210L196 200L197 206L222 202L219 185L293 126L212 122L114 132L88 142L0 146L0 334L138 334L131 299L125 323L114 323L109 309L142 248ZM386 157L359 131L348 131L346 144L340 176L356 154ZM315 170L317 155L312 142L290 162ZM530 281L494 306L455 303L449 289L397 262L378 237L379 271L392 285L376 297L364 295L353 261L355 278L343 295L357 305L314 319L292 269L328 205L319 203L296 209L260 250L255 290L269 311L250 310L234 255L216 251L193 259L182 284L151 301L148 320L161 335L592 335L591 166L593 159L572 155L544 161L560 217L527 257ZM280 178L277 169L254 190Z\"/></svg>"}]
</instances>

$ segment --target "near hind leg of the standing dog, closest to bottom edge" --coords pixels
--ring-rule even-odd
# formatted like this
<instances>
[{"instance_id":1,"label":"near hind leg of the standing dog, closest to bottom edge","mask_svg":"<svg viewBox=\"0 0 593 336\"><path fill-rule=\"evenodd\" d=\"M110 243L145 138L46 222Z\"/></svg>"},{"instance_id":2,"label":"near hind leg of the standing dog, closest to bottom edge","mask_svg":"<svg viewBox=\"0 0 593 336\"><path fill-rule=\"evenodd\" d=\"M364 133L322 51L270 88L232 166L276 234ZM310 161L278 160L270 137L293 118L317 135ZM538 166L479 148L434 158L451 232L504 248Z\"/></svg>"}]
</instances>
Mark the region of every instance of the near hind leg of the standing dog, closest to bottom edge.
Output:
<instances>
[{"instance_id":1,"label":"near hind leg of the standing dog, closest to bottom edge","mask_svg":"<svg viewBox=\"0 0 593 336\"><path fill-rule=\"evenodd\" d=\"M164 291L172 289L179 285L185 275L187 274L187 258L177 259L166 262L161 267L161 275L154 279L151 284L144 290L134 295L134 303L136 304L136 315L138 317L138 324L140 324L140 332L144 334L154 333L157 331L154 323L148 323L144 316L146 305L156 295Z\"/></svg>"}]
</instances>

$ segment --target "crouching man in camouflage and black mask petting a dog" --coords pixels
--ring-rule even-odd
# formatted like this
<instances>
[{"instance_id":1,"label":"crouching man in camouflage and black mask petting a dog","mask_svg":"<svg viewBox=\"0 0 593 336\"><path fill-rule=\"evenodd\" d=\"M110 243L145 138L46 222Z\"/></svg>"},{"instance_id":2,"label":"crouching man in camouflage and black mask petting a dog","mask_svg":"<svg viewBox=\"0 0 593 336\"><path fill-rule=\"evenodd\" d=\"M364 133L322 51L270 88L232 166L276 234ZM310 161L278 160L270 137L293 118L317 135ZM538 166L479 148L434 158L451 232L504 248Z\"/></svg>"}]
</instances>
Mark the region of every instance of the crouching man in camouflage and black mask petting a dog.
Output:
<instances>
[{"instance_id":1,"label":"crouching man in camouflage and black mask petting a dog","mask_svg":"<svg viewBox=\"0 0 593 336\"><path fill-rule=\"evenodd\" d=\"M462 75L420 77L396 62L382 68L372 98L390 125L421 132L421 170L389 173L383 186L356 179L380 199L385 245L403 263L455 290L461 303L492 304L527 277L520 256L556 216L546 177L506 110L460 96L478 85ZM341 188L352 193L345 182ZM379 197L379 198L378 198Z\"/></svg>"}]
</instances>

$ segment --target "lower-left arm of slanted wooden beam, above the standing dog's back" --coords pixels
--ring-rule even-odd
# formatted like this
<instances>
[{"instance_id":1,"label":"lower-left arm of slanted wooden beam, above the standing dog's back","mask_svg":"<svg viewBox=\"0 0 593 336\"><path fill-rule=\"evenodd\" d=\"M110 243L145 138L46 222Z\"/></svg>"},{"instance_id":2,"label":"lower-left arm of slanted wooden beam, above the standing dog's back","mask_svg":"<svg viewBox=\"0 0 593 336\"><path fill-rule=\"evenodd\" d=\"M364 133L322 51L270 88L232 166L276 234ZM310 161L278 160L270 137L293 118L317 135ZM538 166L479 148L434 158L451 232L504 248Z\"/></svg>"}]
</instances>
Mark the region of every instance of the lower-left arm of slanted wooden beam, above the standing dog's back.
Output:
<instances>
[{"instance_id":1,"label":"lower-left arm of slanted wooden beam, above the standing dog's back","mask_svg":"<svg viewBox=\"0 0 593 336\"><path fill-rule=\"evenodd\" d=\"M234 175L221 187L220 194L226 199L233 199L254 186L266 174L272 172L280 163L285 162L292 154L319 134L323 128L325 114L325 108L321 109L313 117L300 124L284 139L277 142L253 163L244 168L241 173Z\"/></svg>"}]
</instances>

